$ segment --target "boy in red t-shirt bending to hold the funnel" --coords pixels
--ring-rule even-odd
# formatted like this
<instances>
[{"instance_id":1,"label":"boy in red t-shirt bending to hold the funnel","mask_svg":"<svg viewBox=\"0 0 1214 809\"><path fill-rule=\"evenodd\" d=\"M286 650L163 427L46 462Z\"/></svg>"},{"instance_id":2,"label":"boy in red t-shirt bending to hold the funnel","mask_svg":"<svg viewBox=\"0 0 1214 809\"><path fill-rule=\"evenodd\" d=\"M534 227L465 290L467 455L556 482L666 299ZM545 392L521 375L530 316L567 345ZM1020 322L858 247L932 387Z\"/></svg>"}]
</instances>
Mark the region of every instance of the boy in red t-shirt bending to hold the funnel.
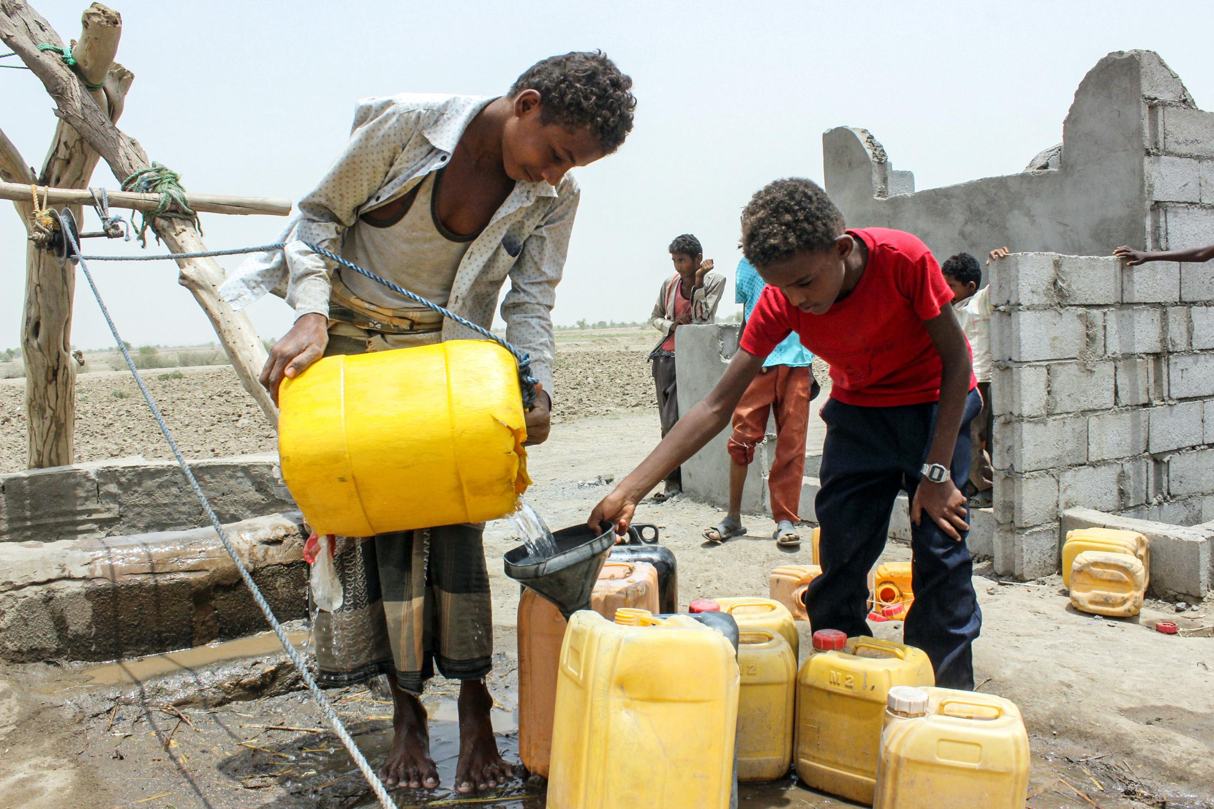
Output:
<instances>
[{"instance_id":1,"label":"boy in red t-shirt bending to hold the funnel","mask_svg":"<svg viewBox=\"0 0 1214 809\"><path fill-rule=\"evenodd\" d=\"M815 629L870 634L868 571L906 489L914 605L906 642L927 653L936 684L974 688L971 643L982 614L965 547L969 422L981 410L969 343L931 251L901 230L845 230L809 180L779 180L742 215L742 250L768 286L711 393L595 507L589 524L623 532L636 503L697 452L730 416L764 358L790 332L830 365L822 408L822 575L805 602Z\"/></svg>"}]
</instances>

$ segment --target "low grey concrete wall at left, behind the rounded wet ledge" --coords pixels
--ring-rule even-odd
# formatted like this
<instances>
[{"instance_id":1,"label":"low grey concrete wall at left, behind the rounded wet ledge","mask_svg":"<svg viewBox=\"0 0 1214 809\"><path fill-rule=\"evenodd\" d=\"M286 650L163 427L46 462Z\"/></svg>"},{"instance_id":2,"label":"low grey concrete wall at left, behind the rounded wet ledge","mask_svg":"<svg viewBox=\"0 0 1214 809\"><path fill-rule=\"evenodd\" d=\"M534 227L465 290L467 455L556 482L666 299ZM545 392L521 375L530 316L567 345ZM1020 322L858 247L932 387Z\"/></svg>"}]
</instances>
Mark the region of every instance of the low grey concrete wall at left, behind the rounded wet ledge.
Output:
<instances>
[{"instance_id":1,"label":"low grey concrete wall at left, behind the rounded wet ledge","mask_svg":"<svg viewBox=\"0 0 1214 809\"><path fill-rule=\"evenodd\" d=\"M193 461L220 519L293 511L277 455ZM117 458L0 475L0 542L53 542L208 523L175 461Z\"/></svg>"}]
</instances>

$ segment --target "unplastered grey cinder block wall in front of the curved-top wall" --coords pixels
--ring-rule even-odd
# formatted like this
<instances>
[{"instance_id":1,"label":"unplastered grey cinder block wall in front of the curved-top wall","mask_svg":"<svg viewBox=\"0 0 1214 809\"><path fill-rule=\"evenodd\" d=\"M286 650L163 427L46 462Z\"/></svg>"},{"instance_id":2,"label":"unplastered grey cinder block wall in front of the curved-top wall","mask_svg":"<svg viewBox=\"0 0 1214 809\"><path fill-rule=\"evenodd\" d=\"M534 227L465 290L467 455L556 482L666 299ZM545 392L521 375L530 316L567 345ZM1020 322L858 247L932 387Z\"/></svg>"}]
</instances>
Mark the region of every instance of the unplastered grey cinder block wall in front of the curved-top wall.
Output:
<instances>
[{"instance_id":1,"label":"unplastered grey cinder block wall in front of the curved-top wall","mask_svg":"<svg viewBox=\"0 0 1214 809\"><path fill-rule=\"evenodd\" d=\"M1015 253L991 284L995 569L1057 570L1073 507L1214 519L1214 270Z\"/></svg>"}]
</instances>

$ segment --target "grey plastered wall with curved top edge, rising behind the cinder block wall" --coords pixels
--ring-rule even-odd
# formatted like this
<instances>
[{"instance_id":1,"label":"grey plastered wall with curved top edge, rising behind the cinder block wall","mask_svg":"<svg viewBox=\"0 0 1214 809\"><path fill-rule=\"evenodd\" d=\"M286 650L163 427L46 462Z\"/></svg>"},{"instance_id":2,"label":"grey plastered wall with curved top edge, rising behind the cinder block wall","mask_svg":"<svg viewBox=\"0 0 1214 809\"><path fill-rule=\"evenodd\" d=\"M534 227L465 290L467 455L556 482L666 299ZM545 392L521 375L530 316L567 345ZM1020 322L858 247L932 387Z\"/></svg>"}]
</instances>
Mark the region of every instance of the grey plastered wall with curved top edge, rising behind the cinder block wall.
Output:
<instances>
[{"instance_id":1,"label":"grey plastered wall with curved top edge, rising behind the cinder block wall","mask_svg":"<svg viewBox=\"0 0 1214 809\"><path fill-rule=\"evenodd\" d=\"M1129 51L1110 53L1079 84L1055 169L914 192L910 172L895 171L866 130L841 126L822 141L826 188L849 226L909 230L943 260L1000 246L1107 256L1123 244L1209 244L1212 136L1214 115L1195 108L1159 56ZM1178 170L1170 155L1190 163Z\"/></svg>"}]
</instances>

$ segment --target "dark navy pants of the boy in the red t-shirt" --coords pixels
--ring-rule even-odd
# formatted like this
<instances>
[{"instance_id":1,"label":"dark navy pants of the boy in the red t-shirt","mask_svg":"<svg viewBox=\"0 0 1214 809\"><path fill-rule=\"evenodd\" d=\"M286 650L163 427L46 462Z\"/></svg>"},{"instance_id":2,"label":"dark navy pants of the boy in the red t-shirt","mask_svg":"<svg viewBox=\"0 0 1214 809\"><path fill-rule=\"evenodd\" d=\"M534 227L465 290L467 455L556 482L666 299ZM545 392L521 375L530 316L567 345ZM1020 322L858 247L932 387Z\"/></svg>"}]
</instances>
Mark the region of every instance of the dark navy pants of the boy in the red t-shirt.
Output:
<instances>
[{"instance_id":1,"label":"dark navy pants of the boy in the red t-shirt","mask_svg":"<svg viewBox=\"0 0 1214 809\"><path fill-rule=\"evenodd\" d=\"M960 489L970 477L970 421L982 409L971 391L965 403L953 483ZM815 501L822 541L822 575L805 594L813 629L841 629L847 637L870 634L868 571L881 556L890 530L890 512L898 491L914 500L919 469L936 427L936 404L900 408L858 408L829 399L822 408L827 426L822 448L822 489ZM971 690L971 644L982 627L974 593L972 562L961 541L944 534L924 512L910 523L914 603L907 614L907 644L927 653L936 684Z\"/></svg>"}]
</instances>

